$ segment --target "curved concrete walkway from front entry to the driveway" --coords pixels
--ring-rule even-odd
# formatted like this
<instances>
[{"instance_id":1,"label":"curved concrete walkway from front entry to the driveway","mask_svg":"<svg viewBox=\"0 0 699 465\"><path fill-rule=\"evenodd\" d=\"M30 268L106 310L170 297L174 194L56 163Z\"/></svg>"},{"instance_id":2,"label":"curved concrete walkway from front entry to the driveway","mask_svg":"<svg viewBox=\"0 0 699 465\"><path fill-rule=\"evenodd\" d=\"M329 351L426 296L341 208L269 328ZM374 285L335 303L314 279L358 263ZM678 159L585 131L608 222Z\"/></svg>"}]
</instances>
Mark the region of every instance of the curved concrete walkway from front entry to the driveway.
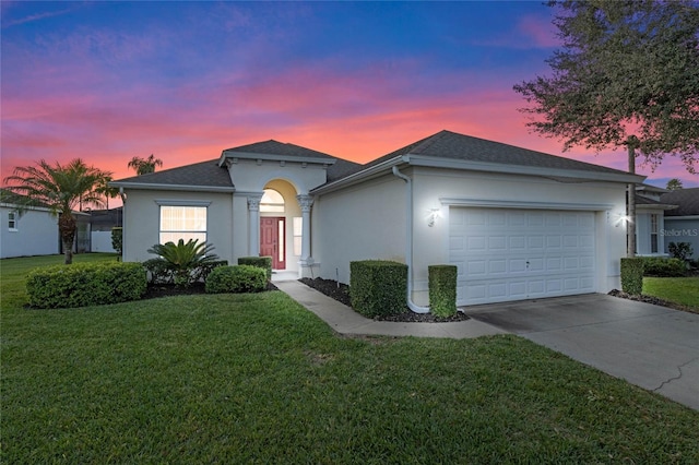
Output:
<instances>
[{"instance_id":1,"label":"curved concrete walkway from front entry to the driveway","mask_svg":"<svg viewBox=\"0 0 699 465\"><path fill-rule=\"evenodd\" d=\"M463 339L493 334L507 334L490 324L476 320L455 323L394 323L375 321L360 315L333 298L298 281L279 281L274 285L286 293L340 334L381 336L447 337Z\"/></svg>"}]
</instances>

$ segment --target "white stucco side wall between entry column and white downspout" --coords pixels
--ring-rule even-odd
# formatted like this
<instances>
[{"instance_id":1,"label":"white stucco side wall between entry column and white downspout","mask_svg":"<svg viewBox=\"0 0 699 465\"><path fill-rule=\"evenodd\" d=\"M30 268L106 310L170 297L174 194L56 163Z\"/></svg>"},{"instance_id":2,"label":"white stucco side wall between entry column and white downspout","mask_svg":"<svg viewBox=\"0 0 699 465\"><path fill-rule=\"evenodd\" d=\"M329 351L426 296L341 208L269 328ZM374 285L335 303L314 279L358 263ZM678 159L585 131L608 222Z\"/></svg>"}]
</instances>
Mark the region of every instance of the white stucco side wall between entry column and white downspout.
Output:
<instances>
[{"instance_id":1,"label":"white stucco side wall between entry column and white downspout","mask_svg":"<svg viewBox=\"0 0 699 465\"><path fill-rule=\"evenodd\" d=\"M350 262L405 262L405 182L389 175L316 198L311 251L316 276L350 283Z\"/></svg>"}]
</instances>

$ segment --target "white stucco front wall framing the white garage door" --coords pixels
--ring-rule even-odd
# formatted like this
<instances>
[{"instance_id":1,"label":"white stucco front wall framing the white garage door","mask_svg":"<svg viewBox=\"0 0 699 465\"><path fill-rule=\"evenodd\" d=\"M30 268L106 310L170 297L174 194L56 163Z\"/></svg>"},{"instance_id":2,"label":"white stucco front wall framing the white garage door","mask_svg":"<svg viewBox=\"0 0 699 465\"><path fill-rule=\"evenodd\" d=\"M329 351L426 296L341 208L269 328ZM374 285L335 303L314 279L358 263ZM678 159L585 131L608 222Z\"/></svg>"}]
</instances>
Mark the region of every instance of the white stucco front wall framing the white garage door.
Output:
<instances>
[{"instance_id":1,"label":"white stucco front wall framing the white garage door","mask_svg":"<svg viewBox=\"0 0 699 465\"><path fill-rule=\"evenodd\" d=\"M414 184L413 297L428 301L427 266L448 263L449 210L443 199L498 203L499 207L553 207L595 211L596 291L619 287L619 259L626 254L626 184L612 182L559 182L531 176L499 175L446 169L416 168ZM440 199L442 199L440 201ZM566 207L566 205L568 205ZM427 217L439 208L434 227ZM608 214L607 214L608 213Z\"/></svg>"}]
</instances>

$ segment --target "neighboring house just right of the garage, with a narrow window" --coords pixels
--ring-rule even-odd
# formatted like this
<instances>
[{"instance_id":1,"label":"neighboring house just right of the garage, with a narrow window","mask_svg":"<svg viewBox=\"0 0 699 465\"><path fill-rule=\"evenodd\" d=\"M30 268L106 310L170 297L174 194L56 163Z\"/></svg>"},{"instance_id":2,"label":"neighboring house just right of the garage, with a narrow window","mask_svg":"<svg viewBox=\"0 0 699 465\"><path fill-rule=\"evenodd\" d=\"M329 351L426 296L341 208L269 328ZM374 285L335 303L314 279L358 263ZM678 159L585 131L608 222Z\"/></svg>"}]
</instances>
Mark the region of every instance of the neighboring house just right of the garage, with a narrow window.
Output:
<instances>
[{"instance_id":1,"label":"neighboring house just right of the garage, with a narrow window","mask_svg":"<svg viewBox=\"0 0 699 465\"><path fill-rule=\"evenodd\" d=\"M677 208L661 200L666 192L650 184L636 187L636 253L640 257L666 255L665 217Z\"/></svg>"}]
</instances>

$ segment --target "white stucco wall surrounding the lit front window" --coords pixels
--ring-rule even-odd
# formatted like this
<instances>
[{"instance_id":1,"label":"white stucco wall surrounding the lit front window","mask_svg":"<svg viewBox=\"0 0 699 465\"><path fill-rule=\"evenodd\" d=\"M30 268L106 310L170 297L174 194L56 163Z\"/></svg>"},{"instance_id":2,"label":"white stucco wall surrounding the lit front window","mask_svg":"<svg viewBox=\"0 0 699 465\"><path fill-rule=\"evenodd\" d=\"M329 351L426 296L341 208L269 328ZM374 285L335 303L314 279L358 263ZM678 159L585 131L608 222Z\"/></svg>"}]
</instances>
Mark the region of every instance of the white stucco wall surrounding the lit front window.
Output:
<instances>
[{"instance_id":1,"label":"white stucco wall surrounding the lit front window","mask_svg":"<svg viewBox=\"0 0 699 465\"><path fill-rule=\"evenodd\" d=\"M135 189L128 189L126 193L123 261L142 262L153 258L147 253L147 249L158 243L159 239L159 205L157 202L167 204L208 202L206 241L215 247L213 252L222 260L233 262L233 195L230 193Z\"/></svg>"}]
</instances>

